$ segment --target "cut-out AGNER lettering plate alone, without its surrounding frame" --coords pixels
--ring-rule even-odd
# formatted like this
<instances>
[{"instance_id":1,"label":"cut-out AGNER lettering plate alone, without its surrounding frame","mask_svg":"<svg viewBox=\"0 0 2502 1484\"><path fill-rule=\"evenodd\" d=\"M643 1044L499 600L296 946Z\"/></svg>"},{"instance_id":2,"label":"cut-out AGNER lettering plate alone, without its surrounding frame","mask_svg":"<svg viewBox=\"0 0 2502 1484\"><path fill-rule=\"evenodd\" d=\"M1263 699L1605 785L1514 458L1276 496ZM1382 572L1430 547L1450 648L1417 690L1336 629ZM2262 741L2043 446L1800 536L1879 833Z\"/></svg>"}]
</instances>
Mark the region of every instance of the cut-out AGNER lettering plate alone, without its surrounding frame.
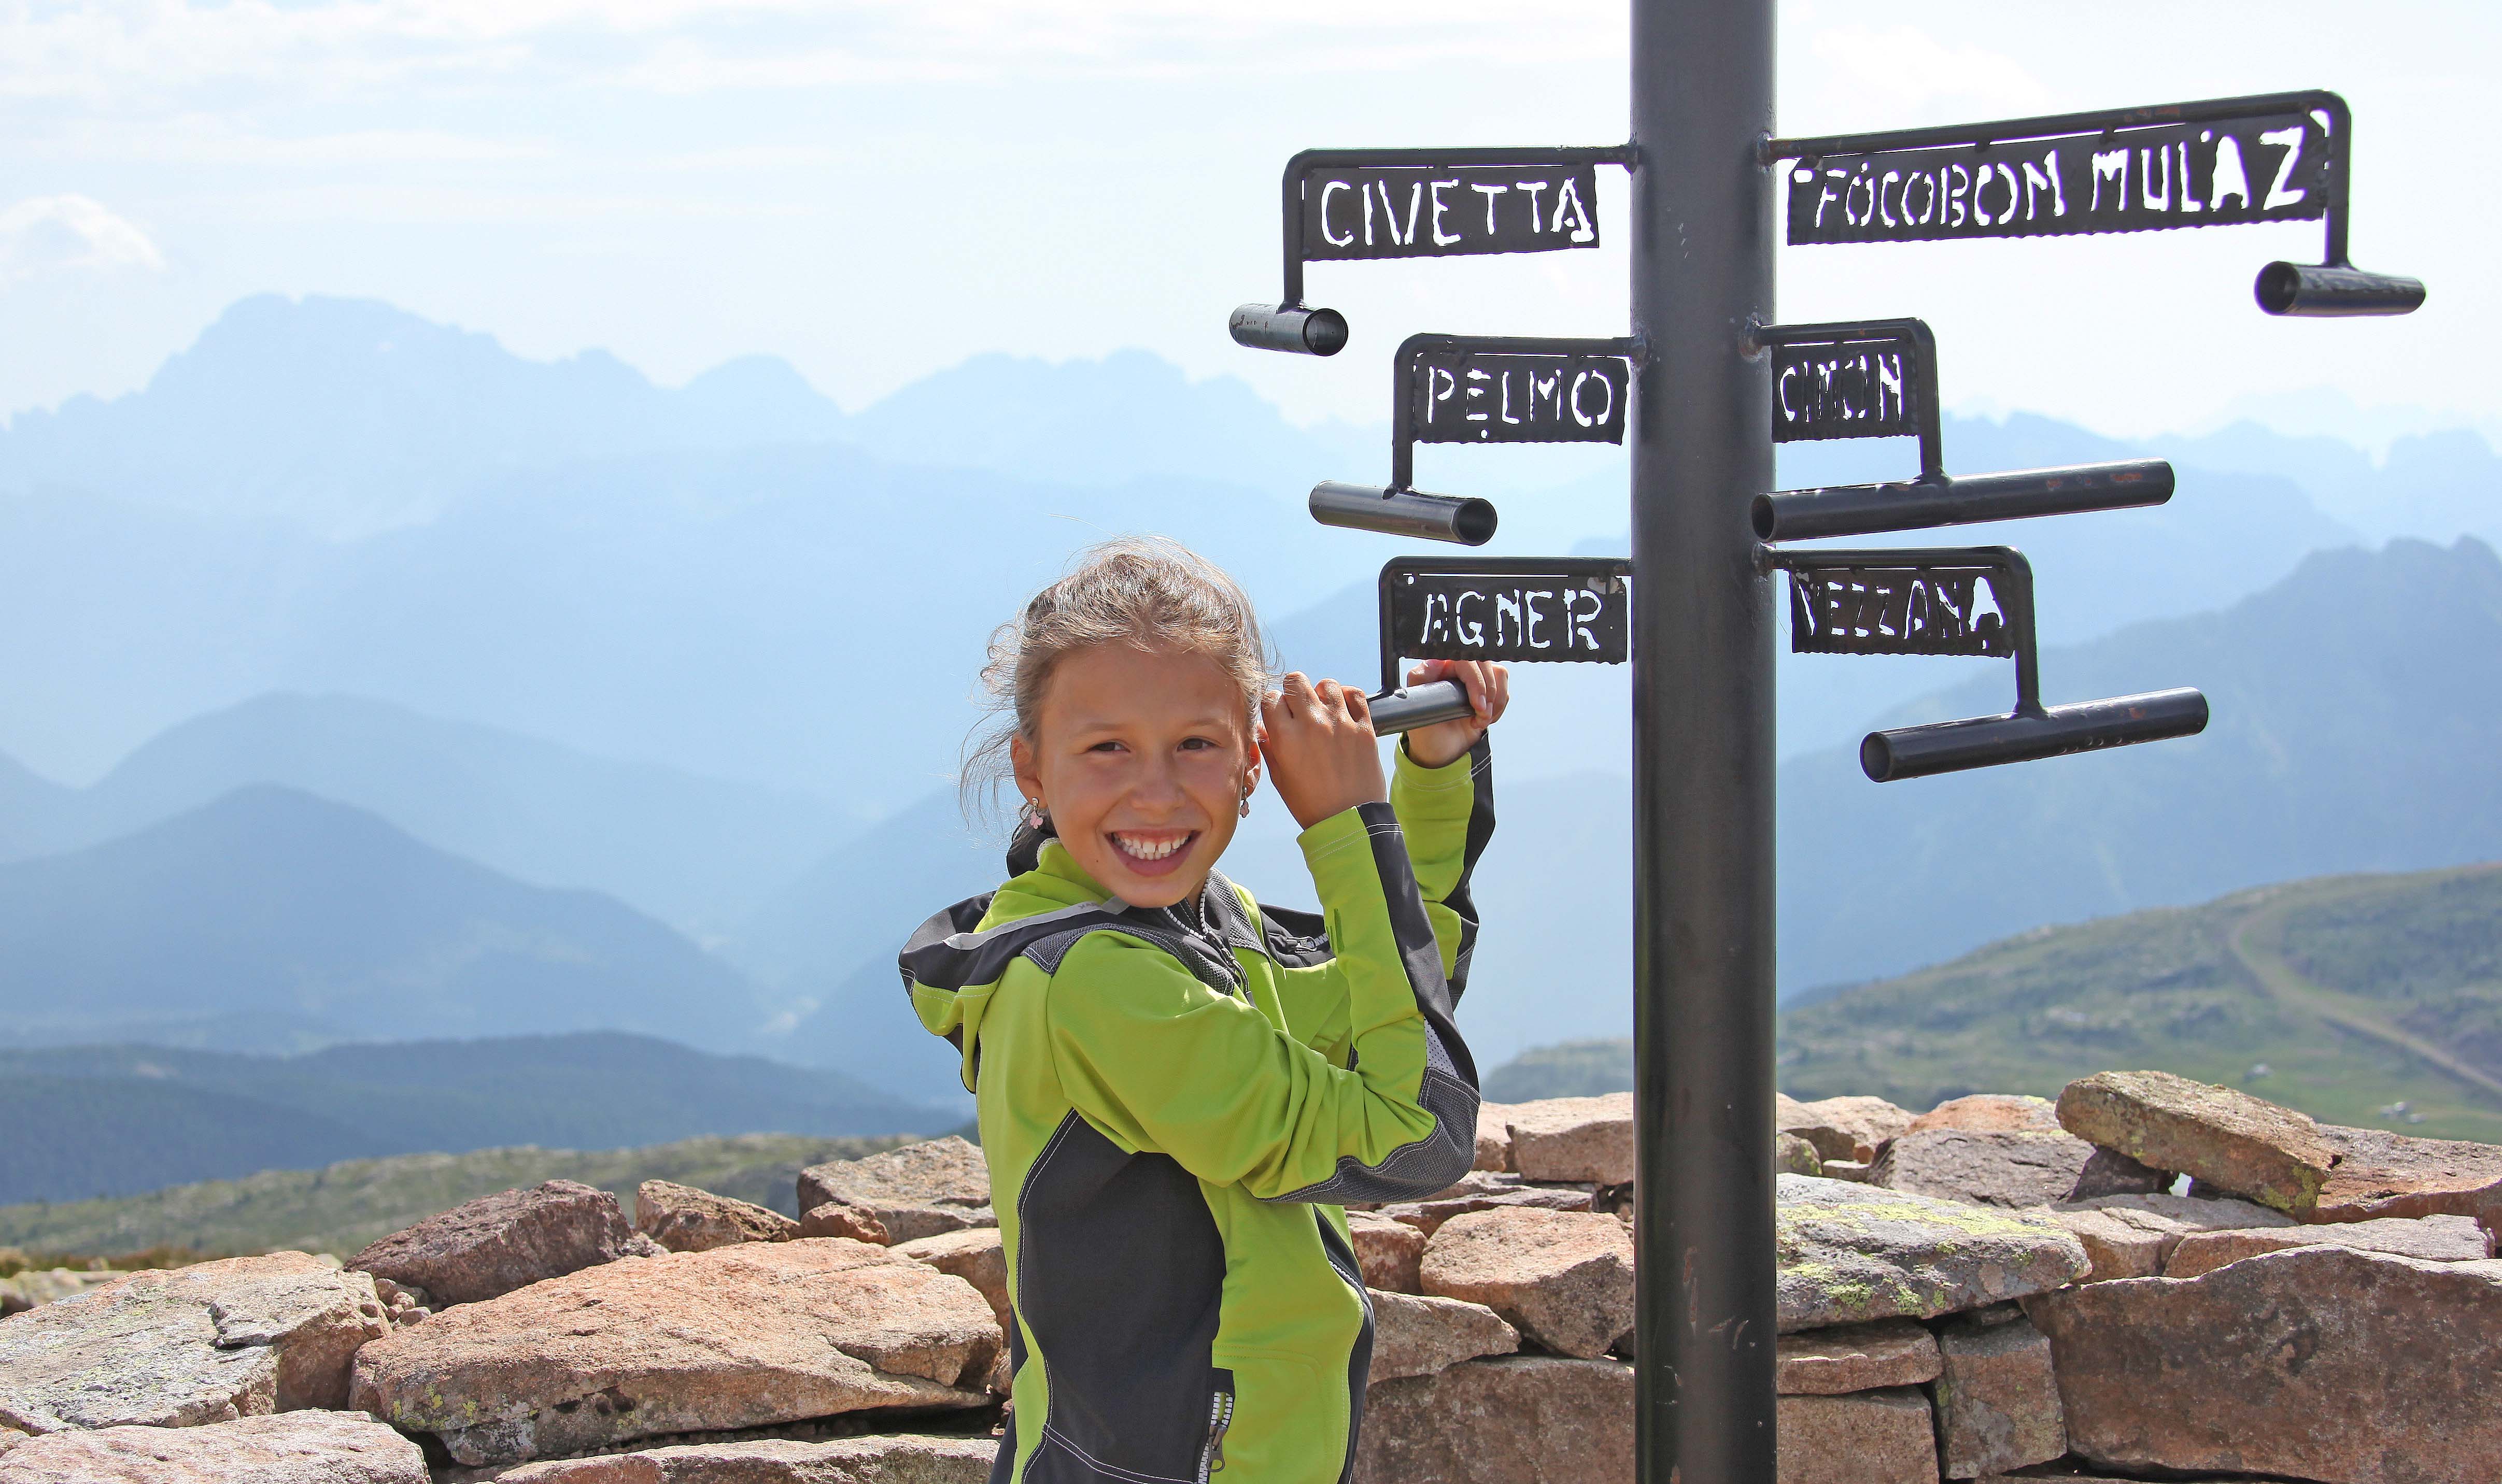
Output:
<instances>
[{"instance_id":1,"label":"cut-out AGNER lettering plate alone, without its surrounding frame","mask_svg":"<svg viewBox=\"0 0 2502 1484\"><path fill-rule=\"evenodd\" d=\"M1436 576L1391 583L1396 653L1421 661L1621 666L1631 593L1619 578Z\"/></svg>"}]
</instances>

